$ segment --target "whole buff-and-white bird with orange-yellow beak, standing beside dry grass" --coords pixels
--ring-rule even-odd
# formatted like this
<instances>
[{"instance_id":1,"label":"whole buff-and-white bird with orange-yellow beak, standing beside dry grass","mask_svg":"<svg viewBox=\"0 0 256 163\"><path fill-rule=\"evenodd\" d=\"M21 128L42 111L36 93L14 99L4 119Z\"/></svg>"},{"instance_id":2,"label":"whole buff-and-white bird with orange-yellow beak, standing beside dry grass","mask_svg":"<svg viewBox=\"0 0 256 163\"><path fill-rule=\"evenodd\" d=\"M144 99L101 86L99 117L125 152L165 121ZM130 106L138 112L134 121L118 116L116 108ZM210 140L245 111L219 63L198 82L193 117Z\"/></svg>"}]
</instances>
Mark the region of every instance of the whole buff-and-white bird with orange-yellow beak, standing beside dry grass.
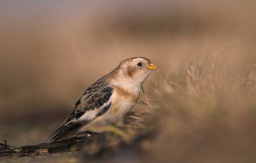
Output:
<instances>
[{"instance_id":1,"label":"whole buff-and-white bird with orange-yellow beak, standing beside dry grass","mask_svg":"<svg viewBox=\"0 0 256 163\"><path fill-rule=\"evenodd\" d=\"M145 57L120 62L113 71L86 89L72 113L45 143L76 138L86 132L100 133L104 125L122 124L124 116L143 92L143 82L157 68Z\"/></svg>"}]
</instances>

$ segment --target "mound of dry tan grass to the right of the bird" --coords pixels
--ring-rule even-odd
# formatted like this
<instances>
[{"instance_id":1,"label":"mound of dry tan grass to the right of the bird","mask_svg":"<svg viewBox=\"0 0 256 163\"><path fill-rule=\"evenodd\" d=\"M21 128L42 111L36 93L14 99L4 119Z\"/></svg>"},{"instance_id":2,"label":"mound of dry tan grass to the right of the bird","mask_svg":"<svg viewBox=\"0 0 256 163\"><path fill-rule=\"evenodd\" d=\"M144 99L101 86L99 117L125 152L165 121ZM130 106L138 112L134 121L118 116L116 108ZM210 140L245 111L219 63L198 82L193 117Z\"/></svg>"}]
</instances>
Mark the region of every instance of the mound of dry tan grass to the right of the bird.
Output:
<instances>
[{"instance_id":1,"label":"mound of dry tan grass to the right of the bird","mask_svg":"<svg viewBox=\"0 0 256 163\"><path fill-rule=\"evenodd\" d=\"M145 146L150 160L255 162L252 71L228 78L215 60L208 67L194 62L182 70L183 80L171 78L155 89L161 129Z\"/></svg>"}]
</instances>

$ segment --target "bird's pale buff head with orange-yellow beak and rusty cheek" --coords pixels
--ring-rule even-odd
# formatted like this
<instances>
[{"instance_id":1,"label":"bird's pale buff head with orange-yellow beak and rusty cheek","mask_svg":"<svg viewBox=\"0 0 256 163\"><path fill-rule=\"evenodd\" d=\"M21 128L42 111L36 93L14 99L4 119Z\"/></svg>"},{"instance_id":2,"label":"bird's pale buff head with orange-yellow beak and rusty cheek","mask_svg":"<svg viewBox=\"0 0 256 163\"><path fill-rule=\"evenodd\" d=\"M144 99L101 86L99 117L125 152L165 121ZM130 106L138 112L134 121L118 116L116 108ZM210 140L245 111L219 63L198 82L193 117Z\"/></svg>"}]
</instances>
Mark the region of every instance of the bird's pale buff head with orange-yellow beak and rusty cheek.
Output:
<instances>
[{"instance_id":1,"label":"bird's pale buff head with orange-yellow beak and rusty cheek","mask_svg":"<svg viewBox=\"0 0 256 163\"><path fill-rule=\"evenodd\" d=\"M158 66L145 57L134 57L123 60L117 67L118 78L124 83L134 83L134 86L141 85L148 74Z\"/></svg>"}]
</instances>

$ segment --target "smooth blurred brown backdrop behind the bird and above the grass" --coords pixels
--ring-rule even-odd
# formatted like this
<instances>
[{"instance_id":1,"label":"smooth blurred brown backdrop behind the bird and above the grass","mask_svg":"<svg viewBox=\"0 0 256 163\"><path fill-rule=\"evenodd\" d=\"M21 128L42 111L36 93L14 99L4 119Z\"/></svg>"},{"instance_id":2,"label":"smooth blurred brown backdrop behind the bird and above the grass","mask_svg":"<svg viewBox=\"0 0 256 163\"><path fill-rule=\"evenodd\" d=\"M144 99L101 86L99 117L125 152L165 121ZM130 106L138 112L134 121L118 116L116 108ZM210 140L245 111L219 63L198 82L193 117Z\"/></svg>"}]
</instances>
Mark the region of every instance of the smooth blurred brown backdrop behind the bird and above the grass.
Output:
<instances>
[{"instance_id":1,"label":"smooth blurred brown backdrop behind the bird and above the grass","mask_svg":"<svg viewBox=\"0 0 256 163\"><path fill-rule=\"evenodd\" d=\"M230 76L256 62L255 1L1 1L0 140L41 143L121 60L177 75L198 55Z\"/></svg>"}]
</instances>

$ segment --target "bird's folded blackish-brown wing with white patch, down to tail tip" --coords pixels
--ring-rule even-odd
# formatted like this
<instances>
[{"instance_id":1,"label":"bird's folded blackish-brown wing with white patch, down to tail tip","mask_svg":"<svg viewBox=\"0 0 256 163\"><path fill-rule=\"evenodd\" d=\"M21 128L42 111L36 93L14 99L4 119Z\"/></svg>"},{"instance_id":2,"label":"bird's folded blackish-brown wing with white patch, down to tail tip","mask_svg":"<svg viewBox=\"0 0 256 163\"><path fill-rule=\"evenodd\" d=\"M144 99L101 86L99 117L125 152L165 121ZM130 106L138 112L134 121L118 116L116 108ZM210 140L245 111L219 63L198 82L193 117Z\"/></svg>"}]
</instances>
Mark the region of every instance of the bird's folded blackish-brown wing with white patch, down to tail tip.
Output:
<instances>
[{"instance_id":1,"label":"bird's folded blackish-brown wing with white patch, down to tail tip","mask_svg":"<svg viewBox=\"0 0 256 163\"><path fill-rule=\"evenodd\" d=\"M61 136L78 129L82 125L92 122L95 118L104 114L111 108L109 99L112 94L113 88L105 81L104 77L93 83L77 101L74 111L72 111L70 116L45 142L49 143L60 139ZM82 116L83 119L81 118Z\"/></svg>"}]
</instances>

